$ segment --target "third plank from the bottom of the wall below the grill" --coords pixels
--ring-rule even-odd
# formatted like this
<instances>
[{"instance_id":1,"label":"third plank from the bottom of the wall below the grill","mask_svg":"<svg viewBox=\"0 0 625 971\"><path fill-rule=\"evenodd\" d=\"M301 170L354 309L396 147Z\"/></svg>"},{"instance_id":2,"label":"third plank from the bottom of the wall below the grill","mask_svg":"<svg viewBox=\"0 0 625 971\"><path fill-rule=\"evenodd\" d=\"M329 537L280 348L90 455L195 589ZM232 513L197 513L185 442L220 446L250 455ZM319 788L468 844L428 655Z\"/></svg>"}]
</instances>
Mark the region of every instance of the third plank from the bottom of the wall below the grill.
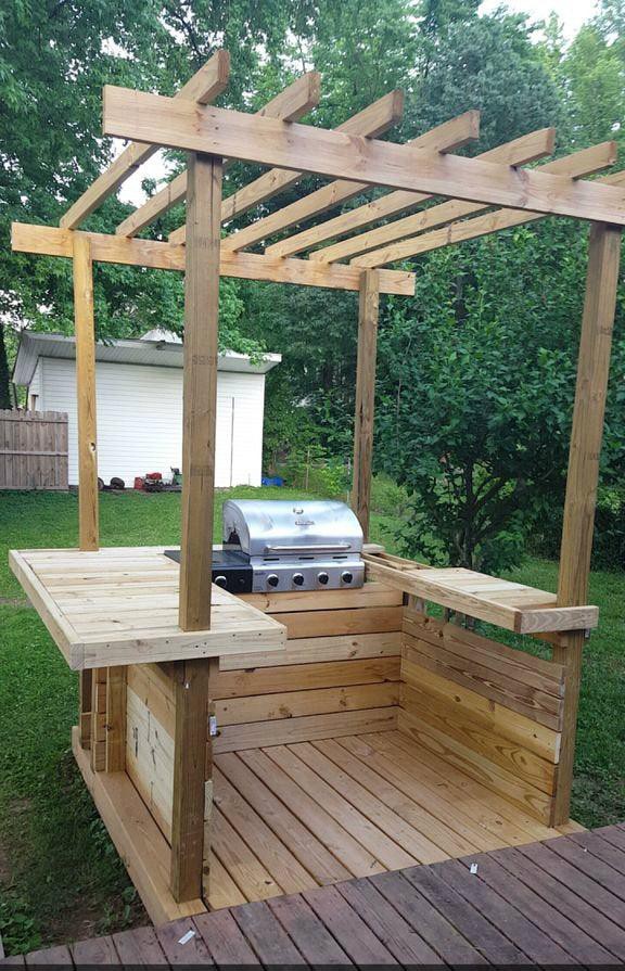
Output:
<instances>
[{"instance_id":1,"label":"third plank from the bottom of the wall below the grill","mask_svg":"<svg viewBox=\"0 0 625 971\"><path fill-rule=\"evenodd\" d=\"M254 663L254 662L253 662ZM216 698L245 698L253 694L276 694L320 688L347 688L380 681L398 681L399 657L372 657L363 661L290 664L242 670L220 670Z\"/></svg>"}]
</instances>

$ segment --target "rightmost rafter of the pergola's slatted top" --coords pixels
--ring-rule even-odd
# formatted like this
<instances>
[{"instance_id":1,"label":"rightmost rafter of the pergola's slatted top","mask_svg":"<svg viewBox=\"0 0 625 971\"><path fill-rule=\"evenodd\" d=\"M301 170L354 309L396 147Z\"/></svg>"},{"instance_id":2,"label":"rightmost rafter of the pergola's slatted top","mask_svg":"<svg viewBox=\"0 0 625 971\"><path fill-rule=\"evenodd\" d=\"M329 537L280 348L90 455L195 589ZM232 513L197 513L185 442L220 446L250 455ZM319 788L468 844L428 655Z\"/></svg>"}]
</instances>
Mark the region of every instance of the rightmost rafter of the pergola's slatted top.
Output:
<instances>
[{"instance_id":1,"label":"rightmost rafter of the pergola's slatted top","mask_svg":"<svg viewBox=\"0 0 625 971\"><path fill-rule=\"evenodd\" d=\"M596 181L599 184L603 183L608 186L625 187L625 170L613 173L610 176L596 179ZM443 203L443 205L451 206L452 203ZM436 206L434 208L438 207ZM428 209L426 212L430 210ZM502 230L511 229L514 226L525 226L528 222L538 222L540 219L546 218L547 216L538 213L522 213L518 209L497 209L494 213L486 213L484 216L477 216L475 219L465 219L463 222L451 222L444 229L436 229L433 232L426 232L420 237L410 237L408 240L401 240L399 243L393 244L393 246L374 251L374 253L379 253L380 258L383 261L387 261L386 258L390 254L393 260L408 259L408 257L418 256L420 253L430 253L432 250L441 250L443 246L454 246L457 243L463 243L467 240L476 240L480 237L487 237L495 232L501 232ZM357 257L352 261L350 266L358 267L366 263L377 263L378 257L373 258L374 253L367 254L367 257Z\"/></svg>"}]
</instances>

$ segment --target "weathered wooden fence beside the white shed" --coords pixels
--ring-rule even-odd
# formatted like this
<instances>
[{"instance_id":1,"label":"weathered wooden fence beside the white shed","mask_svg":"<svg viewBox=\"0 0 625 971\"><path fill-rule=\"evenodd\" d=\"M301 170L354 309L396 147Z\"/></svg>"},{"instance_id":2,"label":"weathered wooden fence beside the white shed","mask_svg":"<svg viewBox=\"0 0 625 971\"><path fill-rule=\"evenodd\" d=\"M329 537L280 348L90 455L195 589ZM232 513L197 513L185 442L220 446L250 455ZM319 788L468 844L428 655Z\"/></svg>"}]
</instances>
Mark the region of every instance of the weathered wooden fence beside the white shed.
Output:
<instances>
[{"instance_id":1,"label":"weathered wooden fence beside the white shed","mask_svg":"<svg viewBox=\"0 0 625 971\"><path fill-rule=\"evenodd\" d=\"M67 414L0 411L0 489L67 487Z\"/></svg>"}]
</instances>

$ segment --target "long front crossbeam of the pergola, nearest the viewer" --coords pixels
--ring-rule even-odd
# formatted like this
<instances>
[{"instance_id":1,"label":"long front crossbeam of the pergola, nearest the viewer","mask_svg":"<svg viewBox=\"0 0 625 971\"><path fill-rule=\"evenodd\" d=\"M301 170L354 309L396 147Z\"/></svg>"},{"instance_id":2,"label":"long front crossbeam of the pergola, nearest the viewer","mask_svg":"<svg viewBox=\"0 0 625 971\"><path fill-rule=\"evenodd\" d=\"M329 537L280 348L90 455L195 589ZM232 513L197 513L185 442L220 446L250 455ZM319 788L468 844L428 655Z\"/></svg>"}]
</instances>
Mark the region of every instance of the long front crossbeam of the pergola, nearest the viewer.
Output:
<instances>
[{"instance_id":1,"label":"long front crossbeam of the pergola, nearest the viewer","mask_svg":"<svg viewBox=\"0 0 625 971\"><path fill-rule=\"evenodd\" d=\"M104 133L191 152L226 153L330 178L625 225L625 193L614 187L423 152L212 105L197 107L126 88L104 88Z\"/></svg>"}]
</instances>

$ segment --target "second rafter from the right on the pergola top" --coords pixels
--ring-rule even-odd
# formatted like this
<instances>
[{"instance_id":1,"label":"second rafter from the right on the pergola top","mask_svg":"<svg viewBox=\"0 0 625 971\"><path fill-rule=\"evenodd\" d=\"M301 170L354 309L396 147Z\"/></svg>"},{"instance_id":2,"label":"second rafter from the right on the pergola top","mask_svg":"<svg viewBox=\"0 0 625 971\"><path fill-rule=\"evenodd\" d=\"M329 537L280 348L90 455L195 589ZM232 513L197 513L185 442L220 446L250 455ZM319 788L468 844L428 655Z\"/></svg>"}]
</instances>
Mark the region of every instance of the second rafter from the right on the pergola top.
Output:
<instances>
[{"instance_id":1,"label":"second rafter from the right on the pergola top","mask_svg":"<svg viewBox=\"0 0 625 971\"><path fill-rule=\"evenodd\" d=\"M494 152L496 153L497 149ZM493 154L488 152L479 157L485 158L486 155L489 155L490 159L494 161ZM602 142L600 145L592 145L590 149L583 149L581 152L574 152L572 155L564 155L564 157L557 158L554 162L540 165L536 171L552 173L579 179L614 165L616 156L616 142ZM374 250L374 253L369 253L366 256L358 255L352 263L361 267L380 267L386 263L394 263L396 259L403 259L405 254L403 242L397 243L396 241L405 240L406 237L413 237L416 233L434 229L437 226L454 222L463 216L482 213L484 208L487 207L457 200L442 203L441 205L432 206L424 213L407 216L404 219L397 219L388 226L382 226L368 233L362 233L353 241L352 246L343 244L340 247L330 247L333 252L329 254L327 251L321 251L327 253L323 261L335 259L337 254L340 257L345 258L348 255L354 256L355 254L363 254L367 250ZM408 242L406 245L407 248L410 248L411 243Z\"/></svg>"}]
</instances>

